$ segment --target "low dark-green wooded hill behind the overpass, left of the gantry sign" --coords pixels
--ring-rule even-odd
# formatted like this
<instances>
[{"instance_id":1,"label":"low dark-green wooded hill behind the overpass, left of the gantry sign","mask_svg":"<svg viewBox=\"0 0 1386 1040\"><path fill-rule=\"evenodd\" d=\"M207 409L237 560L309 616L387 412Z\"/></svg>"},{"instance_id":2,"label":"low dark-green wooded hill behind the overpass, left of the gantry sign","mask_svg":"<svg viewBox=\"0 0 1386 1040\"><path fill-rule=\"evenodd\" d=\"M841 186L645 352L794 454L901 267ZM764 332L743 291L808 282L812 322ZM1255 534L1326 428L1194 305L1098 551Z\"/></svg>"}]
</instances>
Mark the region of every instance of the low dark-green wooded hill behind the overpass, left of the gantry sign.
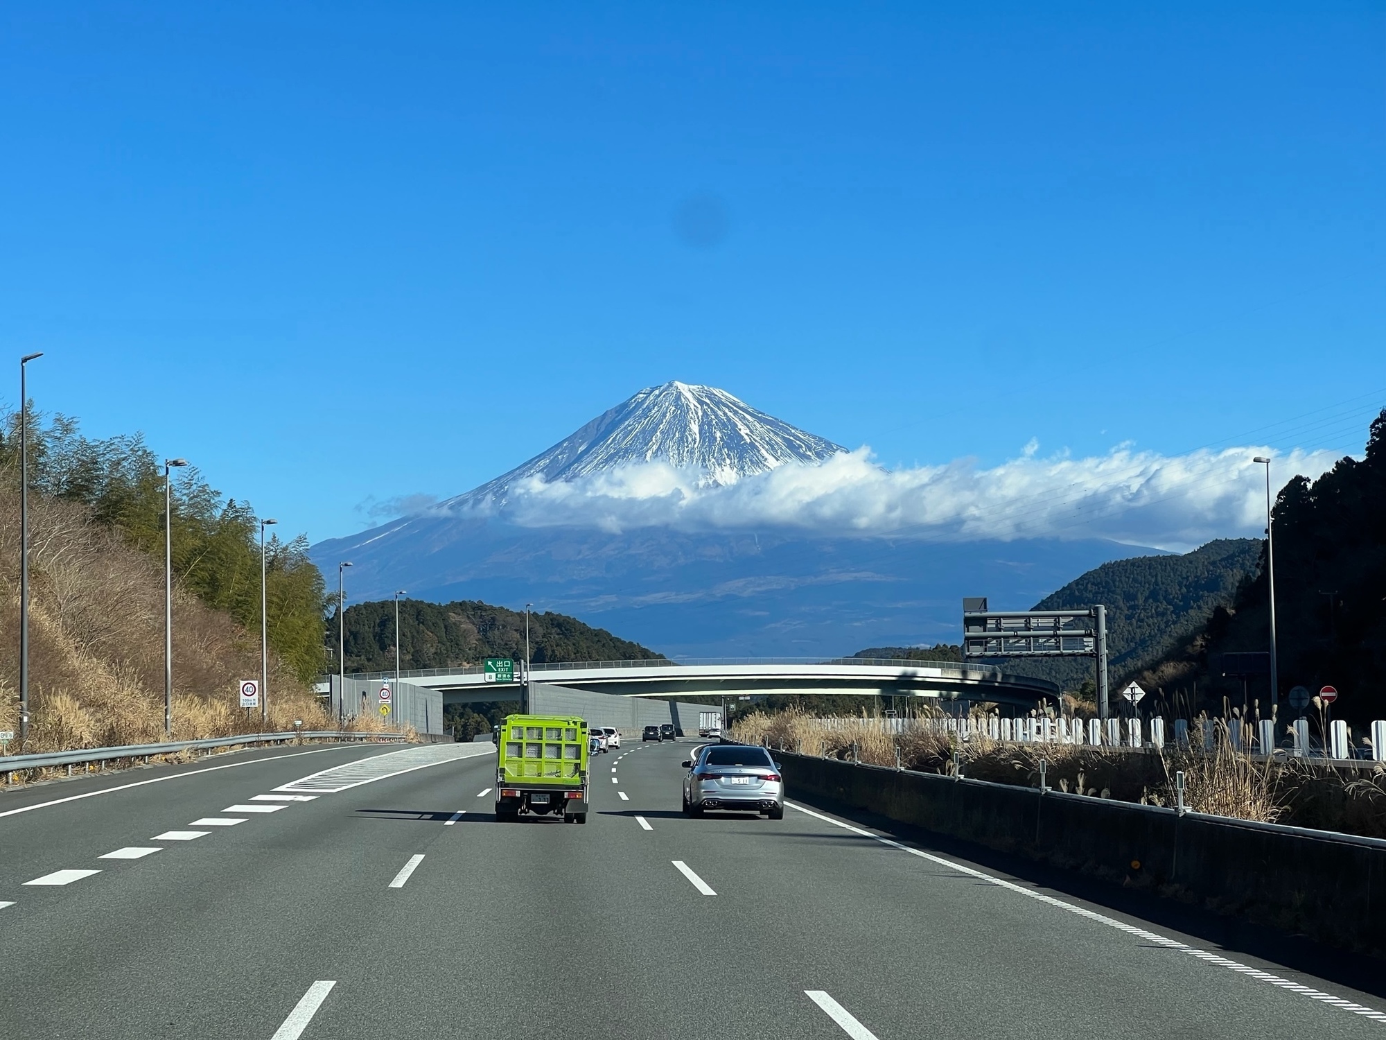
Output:
<instances>
[{"instance_id":1,"label":"low dark-green wooded hill behind the overpass, left of the gantry sign","mask_svg":"<svg viewBox=\"0 0 1386 1040\"><path fill-rule=\"evenodd\" d=\"M389 671L395 667L394 600L349 606L345 623L346 671ZM446 605L401 600L399 628L402 668L450 668L480 664L482 657L524 659L524 613L481 600ZM327 646L335 659L335 613L327 625ZM567 614L529 614L529 659L536 664L663 656Z\"/></svg>"}]
</instances>

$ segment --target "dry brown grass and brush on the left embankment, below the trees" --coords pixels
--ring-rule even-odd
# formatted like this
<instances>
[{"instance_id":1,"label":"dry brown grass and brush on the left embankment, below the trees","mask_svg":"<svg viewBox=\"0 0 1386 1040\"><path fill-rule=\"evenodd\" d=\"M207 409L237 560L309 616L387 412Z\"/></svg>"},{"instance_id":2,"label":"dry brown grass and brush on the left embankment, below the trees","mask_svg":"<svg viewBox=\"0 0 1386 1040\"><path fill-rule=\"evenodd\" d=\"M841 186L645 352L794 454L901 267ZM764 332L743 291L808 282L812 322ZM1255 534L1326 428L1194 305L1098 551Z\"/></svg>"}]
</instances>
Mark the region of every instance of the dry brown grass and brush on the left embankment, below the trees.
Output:
<instances>
[{"instance_id":1,"label":"dry brown grass and brush on the left embankment, below the trees","mask_svg":"<svg viewBox=\"0 0 1386 1040\"><path fill-rule=\"evenodd\" d=\"M29 499L29 743L25 752L164 738L161 562L91 524L80 506ZM18 731L18 494L0 488L0 729ZM236 682L259 675L259 639L190 595L173 602L173 736L262 729ZM335 728L272 655L269 729ZM374 729L371 721L360 728ZM18 743L10 745L19 753Z\"/></svg>"}]
</instances>

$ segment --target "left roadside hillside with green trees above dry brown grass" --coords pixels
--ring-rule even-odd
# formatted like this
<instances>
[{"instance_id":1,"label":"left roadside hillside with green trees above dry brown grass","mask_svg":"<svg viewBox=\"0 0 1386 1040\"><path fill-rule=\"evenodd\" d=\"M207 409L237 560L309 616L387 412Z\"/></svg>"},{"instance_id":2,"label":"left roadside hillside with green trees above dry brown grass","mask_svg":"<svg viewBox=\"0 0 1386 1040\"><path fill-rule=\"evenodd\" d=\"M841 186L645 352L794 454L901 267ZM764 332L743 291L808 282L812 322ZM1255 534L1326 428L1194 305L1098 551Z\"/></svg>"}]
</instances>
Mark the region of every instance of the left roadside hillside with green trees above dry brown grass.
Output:
<instances>
[{"instance_id":1,"label":"left roadside hillside with green trees above dry brown grass","mask_svg":"<svg viewBox=\"0 0 1386 1040\"><path fill-rule=\"evenodd\" d=\"M14 419L11 416L11 419ZM15 423L0 420L0 729L18 724L19 480ZM10 753L164 736L162 470L139 440L89 441L60 419L30 427L28 745ZM259 731L236 682L259 674L254 513L195 474L173 512L173 736ZM305 679L323 660L322 578L302 544L270 571L269 725L330 720ZM254 627L254 628L252 628Z\"/></svg>"}]
</instances>

